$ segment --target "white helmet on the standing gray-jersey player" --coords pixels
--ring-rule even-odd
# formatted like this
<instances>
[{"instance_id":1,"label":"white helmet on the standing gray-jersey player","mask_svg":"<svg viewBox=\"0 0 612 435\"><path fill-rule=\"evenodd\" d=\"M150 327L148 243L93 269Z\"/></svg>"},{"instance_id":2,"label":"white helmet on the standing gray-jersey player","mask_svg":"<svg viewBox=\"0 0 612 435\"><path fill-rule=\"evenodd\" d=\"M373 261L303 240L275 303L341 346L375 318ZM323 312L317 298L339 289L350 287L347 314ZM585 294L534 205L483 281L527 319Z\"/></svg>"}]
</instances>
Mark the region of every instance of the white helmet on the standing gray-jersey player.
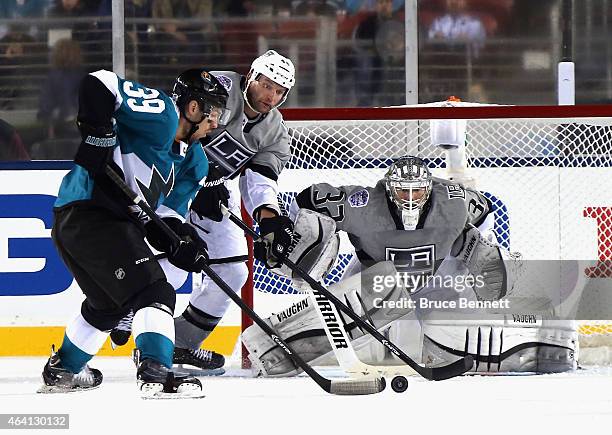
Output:
<instances>
[{"instance_id":1,"label":"white helmet on the standing gray-jersey player","mask_svg":"<svg viewBox=\"0 0 612 435\"><path fill-rule=\"evenodd\" d=\"M286 89L283 99L276 105L279 107L287 99L289 91L295 85L295 67L290 59L278 54L274 50L268 50L251 64L251 70L249 71L249 80L247 81L246 87L244 88L244 100L249 104L247 99L247 90L251 83L259 78L260 75L265 75L276 84Z\"/></svg>"}]
</instances>

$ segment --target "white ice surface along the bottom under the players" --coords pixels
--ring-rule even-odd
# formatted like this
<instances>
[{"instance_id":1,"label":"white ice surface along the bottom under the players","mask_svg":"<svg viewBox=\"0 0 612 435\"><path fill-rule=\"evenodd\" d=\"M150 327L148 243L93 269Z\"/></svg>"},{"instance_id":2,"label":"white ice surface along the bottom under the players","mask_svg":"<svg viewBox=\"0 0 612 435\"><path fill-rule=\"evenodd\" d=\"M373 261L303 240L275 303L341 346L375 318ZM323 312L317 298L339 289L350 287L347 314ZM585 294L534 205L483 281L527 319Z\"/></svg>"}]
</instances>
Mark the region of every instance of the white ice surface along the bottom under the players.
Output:
<instances>
[{"instance_id":1,"label":"white ice surface along the bottom under the players","mask_svg":"<svg viewBox=\"0 0 612 435\"><path fill-rule=\"evenodd\" d=\"M0 358L0 413L70 414L69 430L49 433L575 435L612 428L609 368L442 382L411 377L403 394L387 387L377 395L354 397L329 395L307 377L254 379L234 369L201 378L203 399L142 400L132 362L111 357L96 357L90 364L104 374L97 390L36 394L45 360ZM332 376L337 370L323 373Z\"/></svg>"}]
</instances>

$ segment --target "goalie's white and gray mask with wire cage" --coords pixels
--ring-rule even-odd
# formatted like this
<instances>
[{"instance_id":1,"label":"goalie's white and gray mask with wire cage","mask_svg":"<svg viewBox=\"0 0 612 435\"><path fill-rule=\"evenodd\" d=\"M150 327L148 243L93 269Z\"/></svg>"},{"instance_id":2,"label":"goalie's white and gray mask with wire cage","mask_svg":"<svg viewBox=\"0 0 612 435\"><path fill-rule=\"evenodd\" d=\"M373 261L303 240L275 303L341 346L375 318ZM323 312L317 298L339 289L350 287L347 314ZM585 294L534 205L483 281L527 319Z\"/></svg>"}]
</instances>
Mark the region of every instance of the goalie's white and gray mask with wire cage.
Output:
<instances>
[{"instance_id":1,"label":"goalie's white and gray mask with wire cage","mask_svg":"<svg viewBox=\"0 0 612 435\"><path fill-rule=\"evenodd\" d=\"M395 161L384 177L391 202L402 215L406 229L414 229L432 189L431 172L418 157L406 156Z\"/></svg>"}]
</instances>

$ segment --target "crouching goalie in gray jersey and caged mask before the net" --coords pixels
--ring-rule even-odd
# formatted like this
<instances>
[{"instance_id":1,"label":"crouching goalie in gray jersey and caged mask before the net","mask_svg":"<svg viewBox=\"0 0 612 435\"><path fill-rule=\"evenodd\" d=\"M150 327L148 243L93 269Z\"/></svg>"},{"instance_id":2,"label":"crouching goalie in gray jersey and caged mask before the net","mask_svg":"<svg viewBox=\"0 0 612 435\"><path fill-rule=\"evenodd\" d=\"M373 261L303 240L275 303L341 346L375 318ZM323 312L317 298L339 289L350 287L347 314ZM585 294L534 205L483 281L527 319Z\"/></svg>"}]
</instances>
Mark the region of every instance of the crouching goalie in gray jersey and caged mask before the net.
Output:
<instances>
[{"instance_id":1,"label":"crouching goalie in gray jersey and caged mask before the net","mask_svg":"<svg viewBox=\"0 0 612 435\"><path fill-rule=\"evenodd\" d=\"M433 178L425 163L417 157L407 156L398 159L375 187L334 187L320 183L310 186L297 195L291 205L291 216L295 220L295 234L300 237L296 237L299 241L292 245L289 258L310 270L315 279L321 279L335 259L337 247L329 248L333 243L317 245L317 242L314 242L314 240L330 239L329 234L325 234L329 232L325 224L328 219L319 215L312 223L310 220L313 218L308 217L312 212L305 213L305 210L333 219L335 230L346 232L355 248L356 256L344 274L343 281L330 287L330 290L348 302L358 314L367 318L378 329L387 329L387 333L394 337L393 341L398 340L398 334L402 332L398 332L397 329L406 328L406 323L402 325L402 322L410 316L414 319L415 315L414 305L402 305L397 302L408 299L414 301L417 298L428 301L449 301L457 300L459 296L468 296L459 292L456 287L447 287L436 284L440 281L428 280L430 277L447 275L480 277L478 285L473 285L470 289L473 292L472 299L475 301L497 301L504 298L512 289L514 272L512 267L517 262L495 243L494 215L490 201L476 190L448 180ZM322 230L312 230L317 226ZM318 256L313 255L313 251L319 252ZM406 280L403 288L398 285L390 288L388 292L383 290L380 293L380 290L374 290L373 287L365 290L368 286L364 285L367 281L364 276L376 267L377 270L383 270L380 265L386 261L394 265L391 266L389 275L400 272L418 277L420 280ZM321 264L324 266L321 267ZM375 266L366 269L372 265ZM356 281L353 279L352 284L344 284L351 280L351 275L363 269L366 270L361 278L357 277ZM292 276L288 269L282 268L281 273L293 278L294 285L296 283L298 286L302 285L298 277ZM355 290L351 285L359 290ZM379 300L378 305L375 302L376 298ZM381 308L380 301L391 301L393 304L382 304ZM303 302L305 303L294 304L299 309L289 310L287 311L289 314L284 316L273 315L270 321L283 338L292 342L296 351L302 350L304 353L300 352L301 355L312 361L330 352L331 346L321 329L317 315L314 314L314 308L304 308L308 306L308 300ZM437 342L427 341L427 337L425 338L426 343L423 345L422 353L425 362L432 360L436 363L450 362L468 347L472 349L471 345L468 346L466 338L466 330L469 328L465 324L456 327L455 325L461 322L453 321L453 315L450 316L450 320L449 317L444 317L444 322L430 322L430 310L419 311L418 304L416 308L423 324L423 331L438 338ZM415 323L409 324L413 328ZM481 326L478 321L474 325L476 329ZM354 342L363 343L367 340L368 337L364 336L354 323L345 323L345 327ZM388 328L391 328L391 332ZM460 344L459 339L453 336L457 335L456 330L459 329L463 333ZM493 330L492 327L486 329ZM538 340L531 335L532 331L524 337L521 337L520 331L518 333L514 331L512 335L512 340L522 340L516 348L521 361L525 356L520 353L521 349L536 348L534 341ZM470 340L477 340L477 335L480 336L480 333L473 334ZM447 336L452 339L443 341ZM507 340L508 337L507 335ZM548 349L561 349L557 355L560 357L560 360L556 361L558 364L552 368L548 366L549 371L567 370L572 365L571 343L566 343L567 348L561 348L558 346L561 341L553 340L548 343L554 344ZM529 343L528 346L525 346L526 342ZM251 360L260 373L280 375L294 372L295 367L291 362L281 354L274 342L261 334L256 326L249 327L243 333L243 343L251 352ZM478 346L481 346L480 341ZM458 353L453 353L455 350ZM475 360L478 361L480 350L474 354ZM484 358L490 362L488 356ZM524 371L538 367L537 361L534 364L535 366L507 364L504 369ZM483 367L486 368L487 365L480 365L480 369Z\"/></svg>"}]
</instances>

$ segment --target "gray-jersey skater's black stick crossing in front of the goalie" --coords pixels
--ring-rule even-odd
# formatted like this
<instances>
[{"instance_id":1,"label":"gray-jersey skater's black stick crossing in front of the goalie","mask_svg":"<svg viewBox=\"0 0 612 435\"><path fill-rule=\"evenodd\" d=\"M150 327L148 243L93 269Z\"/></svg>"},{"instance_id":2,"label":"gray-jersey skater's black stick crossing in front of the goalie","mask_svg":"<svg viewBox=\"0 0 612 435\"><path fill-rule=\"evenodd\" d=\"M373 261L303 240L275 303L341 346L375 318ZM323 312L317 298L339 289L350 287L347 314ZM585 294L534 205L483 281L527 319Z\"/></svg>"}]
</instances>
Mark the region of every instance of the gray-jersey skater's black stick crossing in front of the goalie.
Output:
<instances>
[{"instance_id":1,"label":"gray-jersey skater's black stick crossing in front of the goalie","mask_svg":"<svg viewBox=\"0 0 612 435\"><path fill-rule=\"evenodd\" d=\"M227 207L221 205L221 211L223 214L227 215L229 219L238 225L244 232L253 237L253 239L260 239L259 234L257 234L252 228L246 225L239 217L233 214ZM283 260L283 264L287 265L289 269L293 272L297 273L302 279L304 279L313 290L325 295L327 299L329 299L340 311L349 316L359 327L365 329L369 334L371 334L374 338L376 338L380 343L382 343L391 353L401 359L404 363L408 364L415 372L420 374L426 379L441 381L444 379L449 379L455 376L459 376L468 370L471 370L474 359L471 355L467 355L451 364L441 366L441 367L423 367L416 363L412 358L402 352L396 345L387 340L378 330L372 326L370 323L364 321L359 315L357 315L353 310L351 310L348 306L346 306L340 299L334 296L329 290L315 281L304 269L295 264L293 261L285 258Z\"/></svg>"}]
</instances>

